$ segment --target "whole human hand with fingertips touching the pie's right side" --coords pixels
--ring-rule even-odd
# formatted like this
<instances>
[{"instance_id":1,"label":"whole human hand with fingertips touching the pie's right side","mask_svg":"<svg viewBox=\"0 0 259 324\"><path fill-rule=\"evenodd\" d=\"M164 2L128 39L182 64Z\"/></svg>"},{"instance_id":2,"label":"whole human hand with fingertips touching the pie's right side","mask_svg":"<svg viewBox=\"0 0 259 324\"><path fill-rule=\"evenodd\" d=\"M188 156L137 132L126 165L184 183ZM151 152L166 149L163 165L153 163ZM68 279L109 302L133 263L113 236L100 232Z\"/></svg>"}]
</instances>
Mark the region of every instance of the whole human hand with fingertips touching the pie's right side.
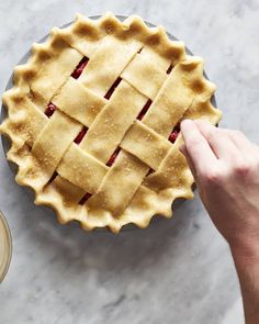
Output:
<instances>
[{"instance_id":1,"label":"whole human hand with fingertips touching the pie's right side","mask_svg":"<svg viewBox=\"0 0 259 324\"><path fill-rule=\"evenodd\" d=\"M217 230L233 249L259 253L259 147L203 120L183 121L181 132L180 149Z\"/></svg>"}]
</instances>

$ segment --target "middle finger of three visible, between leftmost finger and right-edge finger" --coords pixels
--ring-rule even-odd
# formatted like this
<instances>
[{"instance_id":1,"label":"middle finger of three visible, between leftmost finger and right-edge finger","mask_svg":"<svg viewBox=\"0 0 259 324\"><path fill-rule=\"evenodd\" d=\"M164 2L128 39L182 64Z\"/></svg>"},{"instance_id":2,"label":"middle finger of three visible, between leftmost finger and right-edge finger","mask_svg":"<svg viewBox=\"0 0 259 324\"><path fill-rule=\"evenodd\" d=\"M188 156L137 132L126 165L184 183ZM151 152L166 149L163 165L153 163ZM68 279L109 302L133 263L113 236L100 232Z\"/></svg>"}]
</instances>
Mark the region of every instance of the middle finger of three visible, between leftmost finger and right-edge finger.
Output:
<instances>
[{"instance_id":1,"label":"middle finger of three visible, between leftmost finger and right-edge finger","mask_svg":"<svg viewBox=\"0 0 259 324\"><path fill-rule=\"evenodd\" d=\"M225 132L204 120L196 120L195 123L218 159L236 161L240 158L239 150Z\"/></svg>"}]
</instances>

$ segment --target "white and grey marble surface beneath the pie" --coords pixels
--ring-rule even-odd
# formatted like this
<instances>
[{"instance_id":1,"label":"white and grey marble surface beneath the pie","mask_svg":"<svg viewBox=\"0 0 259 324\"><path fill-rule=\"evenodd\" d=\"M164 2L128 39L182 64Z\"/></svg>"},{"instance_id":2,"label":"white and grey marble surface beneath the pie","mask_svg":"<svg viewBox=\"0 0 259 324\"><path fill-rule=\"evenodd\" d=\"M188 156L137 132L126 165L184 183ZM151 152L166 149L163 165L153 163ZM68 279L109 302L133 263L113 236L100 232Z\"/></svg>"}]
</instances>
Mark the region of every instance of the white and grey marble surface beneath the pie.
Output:
<instances>
[{"instance_id":1,"label":"white and grey marble surface beneath the pie","mask_svg":"<svg viewBox=\"0 0 259 324\"><path fill-rule=\"evenodd\" d=\"M259 143L259 1L35 0L0 2L0 91L20 57L53 25L104 11L164 24L205 58L223 126ZM117 236L60 226L15 185L0 150L0 208L13 236L0 286L0 324L243 323L226 243L199 197L176 217Z\"/></svg>"}]
</instances>

